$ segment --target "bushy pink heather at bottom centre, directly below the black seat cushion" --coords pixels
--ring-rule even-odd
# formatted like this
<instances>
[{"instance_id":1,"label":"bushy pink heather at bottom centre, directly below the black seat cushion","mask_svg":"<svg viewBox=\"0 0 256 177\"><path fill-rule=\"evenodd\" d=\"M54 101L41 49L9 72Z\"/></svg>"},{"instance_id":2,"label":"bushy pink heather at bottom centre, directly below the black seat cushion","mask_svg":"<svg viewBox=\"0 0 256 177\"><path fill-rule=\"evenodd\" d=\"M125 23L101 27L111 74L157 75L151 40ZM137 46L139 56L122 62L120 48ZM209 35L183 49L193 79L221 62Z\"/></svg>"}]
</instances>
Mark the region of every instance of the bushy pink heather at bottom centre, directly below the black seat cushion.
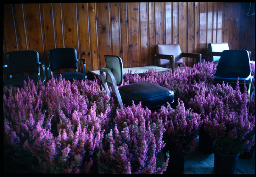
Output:
<instances>
[{"instance_id":1,"label":"bushy pink heather at bottom centre, directly below the black seat cushion","mask_svg":"<svg viewBox=\"0 0 256 177\"><path fill-rule=\"evenodd\" d=\"M156 156L162 149L162 121L156 113L141 107L141 103L116 110L115 127L106 135L98 153L101 173L162 173L169 156L161 167L156 167Z\"/></svg>"}]
</instances>

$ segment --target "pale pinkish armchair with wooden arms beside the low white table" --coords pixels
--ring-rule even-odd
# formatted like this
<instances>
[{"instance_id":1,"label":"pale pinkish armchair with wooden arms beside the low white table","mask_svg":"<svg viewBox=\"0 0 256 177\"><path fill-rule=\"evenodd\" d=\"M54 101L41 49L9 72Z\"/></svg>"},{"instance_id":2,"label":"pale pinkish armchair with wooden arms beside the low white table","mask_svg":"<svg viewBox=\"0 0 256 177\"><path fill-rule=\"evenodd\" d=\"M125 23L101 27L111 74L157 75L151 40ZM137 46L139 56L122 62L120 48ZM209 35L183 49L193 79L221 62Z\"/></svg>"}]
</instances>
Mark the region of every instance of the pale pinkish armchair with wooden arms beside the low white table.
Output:
<instances>
[{"instance_id":1,"label":"pale pinkish armchair with wooden arms beside the low white table","mask_svg":"<svg viewBox=\"0 0 256 177\"><path fill-rule=\"evenodd\" d=\"M155 58L159 66L169 66L174 71L177 69L175 65L180 67L183 63L182 57L196 58L196 63L200 63L202 55L182 52L179 44L156 45Z\"/></svg>"}]
</instances>

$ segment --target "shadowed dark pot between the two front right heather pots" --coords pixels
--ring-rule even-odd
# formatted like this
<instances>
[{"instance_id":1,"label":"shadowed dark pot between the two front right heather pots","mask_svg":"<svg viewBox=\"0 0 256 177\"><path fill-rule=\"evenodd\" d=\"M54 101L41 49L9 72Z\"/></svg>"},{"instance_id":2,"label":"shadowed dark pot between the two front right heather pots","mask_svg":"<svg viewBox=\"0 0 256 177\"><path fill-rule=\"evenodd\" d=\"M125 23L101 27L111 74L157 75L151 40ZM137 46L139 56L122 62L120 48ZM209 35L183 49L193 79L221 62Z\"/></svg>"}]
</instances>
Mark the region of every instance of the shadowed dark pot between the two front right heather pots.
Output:
<instances>
[{"instance_id":1,"label":"shadowed dark pot between the two front right heather pots","mask_svg":"<svg viewBox=\"0 0 256 177\"><path fill-rule=\"evenodd\" d=\"M213 139L205 129L199 131L199 150L206 154L213 153Z\"/></svg>"}]
</instances>

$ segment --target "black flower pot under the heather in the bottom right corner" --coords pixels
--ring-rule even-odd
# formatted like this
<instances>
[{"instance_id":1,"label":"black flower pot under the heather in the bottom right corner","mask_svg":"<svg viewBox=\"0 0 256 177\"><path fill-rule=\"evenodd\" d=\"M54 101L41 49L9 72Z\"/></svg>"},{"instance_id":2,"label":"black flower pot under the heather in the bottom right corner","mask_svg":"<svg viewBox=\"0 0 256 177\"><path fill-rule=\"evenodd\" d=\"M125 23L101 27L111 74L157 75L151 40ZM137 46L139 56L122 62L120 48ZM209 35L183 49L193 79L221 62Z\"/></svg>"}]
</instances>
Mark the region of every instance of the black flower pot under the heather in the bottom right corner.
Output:
<instances>
[{"instance_id":1,"label":"black flower pot under the heather in the bottom right corner","mask_svg":"<svg viewBox=\"0 0 256 177\"><path fill-rule=\"evenodd\" d=\"M221 154L214 150L214 173L234 174L239 154Z\"/></svg>"}]
</instances>

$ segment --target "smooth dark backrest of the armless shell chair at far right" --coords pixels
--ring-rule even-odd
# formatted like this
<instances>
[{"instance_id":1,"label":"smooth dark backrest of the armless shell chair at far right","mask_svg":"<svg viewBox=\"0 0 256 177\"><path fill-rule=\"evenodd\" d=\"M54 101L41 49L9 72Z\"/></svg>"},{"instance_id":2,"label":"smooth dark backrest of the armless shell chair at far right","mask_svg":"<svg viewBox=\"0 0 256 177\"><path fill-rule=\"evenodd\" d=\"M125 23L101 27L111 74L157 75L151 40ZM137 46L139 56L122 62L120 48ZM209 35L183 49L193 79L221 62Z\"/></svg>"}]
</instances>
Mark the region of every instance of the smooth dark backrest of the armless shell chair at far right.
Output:
<instances>
[{"instance_id":1,"label":"smooth dark backrest of the armless shell chair at far right","mask_svg":"<svg viewBox=\"0 0 256 177\"><path fill-rule=\"evenodd\" d=\"M249 52L247 50L224 50L214 75L223 78L251 76Z\"/></svg>"}]
</instances>

